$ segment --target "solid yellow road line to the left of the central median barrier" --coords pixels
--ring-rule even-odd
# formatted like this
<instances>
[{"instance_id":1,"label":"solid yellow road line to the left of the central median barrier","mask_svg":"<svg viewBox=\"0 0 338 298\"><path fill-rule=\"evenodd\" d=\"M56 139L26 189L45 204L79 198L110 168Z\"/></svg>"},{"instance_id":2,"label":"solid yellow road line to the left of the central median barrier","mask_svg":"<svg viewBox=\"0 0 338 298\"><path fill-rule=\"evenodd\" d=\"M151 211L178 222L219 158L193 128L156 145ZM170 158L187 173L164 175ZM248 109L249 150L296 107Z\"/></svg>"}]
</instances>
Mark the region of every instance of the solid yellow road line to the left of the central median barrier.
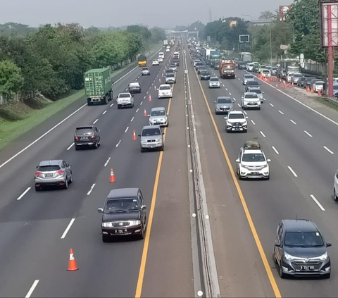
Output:
<instances>
[{"instance_id":1,"label":"solid yellow road line to the left of the central median barrier","mask_svg":"<svg viewBox=\"0 0 338 298\"><path fill-rule=\"evenodd\" d=\"M173 92L174 92L174 87L175 85L173 86ZM170 111L170 106L171 106L171 98L169 99L167 113L169 113ZM168 128L164 128L163 143L165 141L167 129ZM144 239L141 265L139 266L139 278L137 280L135 298L141 297L141 294L142 294L144 272L146 271L146 257L148 256L149 241L150 241L150 235L151 235L151 225L153 224L153 219L154 219L156 197L157 197L156 195L157 195L157 190L158 190L158 181L160 179L162 159L163 159L163 151L160 151L160 156L158 157L158 165L157 165L157 170L156 170L155 183L154 183L153 197L151 198L151 207L149 211L149 219L148 219L147 228L146 228L146 237Z\"/></svg>"}]
</instances>

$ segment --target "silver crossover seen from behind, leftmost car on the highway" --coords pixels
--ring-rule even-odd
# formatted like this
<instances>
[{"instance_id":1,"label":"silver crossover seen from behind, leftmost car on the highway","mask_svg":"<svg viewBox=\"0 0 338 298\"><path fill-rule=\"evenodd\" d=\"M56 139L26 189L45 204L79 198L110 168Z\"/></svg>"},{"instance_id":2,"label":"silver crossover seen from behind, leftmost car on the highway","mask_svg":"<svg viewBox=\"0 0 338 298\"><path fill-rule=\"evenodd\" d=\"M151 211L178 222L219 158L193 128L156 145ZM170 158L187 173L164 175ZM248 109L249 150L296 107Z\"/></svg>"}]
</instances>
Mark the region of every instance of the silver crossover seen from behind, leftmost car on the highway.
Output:
<instances>
[{"instance_id":1,"label":"silver crossover seen from behind, leftmost car on the highway","mask_svg":"<svg viewBox=\"0 0 338 298\"><path fill-rule=\"evenodd\" d=\"M44 186L59 186L65 190L73 182L72 166L63 160L42 161L35 171L35 190Z\"/></svg>"}]
</instances>

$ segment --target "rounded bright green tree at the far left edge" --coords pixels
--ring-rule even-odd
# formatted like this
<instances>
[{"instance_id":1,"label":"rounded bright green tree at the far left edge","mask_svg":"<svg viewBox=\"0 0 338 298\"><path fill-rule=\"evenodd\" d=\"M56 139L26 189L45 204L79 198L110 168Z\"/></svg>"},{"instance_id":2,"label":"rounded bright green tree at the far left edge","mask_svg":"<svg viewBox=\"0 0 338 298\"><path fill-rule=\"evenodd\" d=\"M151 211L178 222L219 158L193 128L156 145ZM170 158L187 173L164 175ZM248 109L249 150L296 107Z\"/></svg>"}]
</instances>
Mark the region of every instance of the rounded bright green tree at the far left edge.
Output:
<instances>
[{"instance_id":1,"label":"rounded bright green tree at the far left edge","mask_svg":"<svg viewBox=\"0 0 338 298\"><path fill-rule=\"evenodd\" d=\"M12 61L0 61L0 94L9 99L22 85L23 76L20 68Z\"/></svg>"}]
</instances>

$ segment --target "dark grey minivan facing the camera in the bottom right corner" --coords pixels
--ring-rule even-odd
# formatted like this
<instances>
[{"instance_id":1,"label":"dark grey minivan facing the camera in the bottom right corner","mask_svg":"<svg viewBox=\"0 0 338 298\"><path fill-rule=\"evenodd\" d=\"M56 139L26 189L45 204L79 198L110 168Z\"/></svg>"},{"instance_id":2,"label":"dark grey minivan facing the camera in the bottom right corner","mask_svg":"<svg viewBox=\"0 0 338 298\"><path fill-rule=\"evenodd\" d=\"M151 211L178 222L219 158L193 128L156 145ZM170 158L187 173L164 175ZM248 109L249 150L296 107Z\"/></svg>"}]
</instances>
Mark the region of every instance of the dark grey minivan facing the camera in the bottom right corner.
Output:
<instances>
[{"instance_id":1,"label":"dark grey minivan facing the camera in the bottom right corner","mask_svg":"<svg viewBox=\"0 0 338 298\"><path fill-rule=\"evenodd\" d=\"M323 236L313 221L285 219L277 228L273 259L280 277L319 275L330 278L331 261Z\"/></svg>"}]
</instances>

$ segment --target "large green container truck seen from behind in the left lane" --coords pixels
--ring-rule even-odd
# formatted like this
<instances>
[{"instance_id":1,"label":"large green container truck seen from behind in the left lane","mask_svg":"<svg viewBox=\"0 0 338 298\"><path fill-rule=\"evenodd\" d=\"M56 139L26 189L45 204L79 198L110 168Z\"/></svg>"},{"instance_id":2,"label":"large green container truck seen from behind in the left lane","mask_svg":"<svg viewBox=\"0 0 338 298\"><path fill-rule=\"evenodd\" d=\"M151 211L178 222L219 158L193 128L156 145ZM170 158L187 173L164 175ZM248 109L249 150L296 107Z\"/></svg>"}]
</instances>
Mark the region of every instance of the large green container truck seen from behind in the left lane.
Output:
<instances>
[{"instance_id":1,"label":"large green container truck seen from behind in the left lane","mask_svg":"<svg viewBox=\"0 0 338 298\"><path fill-rule=\"evenodd\" d=\"M96 68L84 73L84 94L88 106L95 103L108 104L113 99L111 70L109 68Z\"/></svg>"}]
</instances>

